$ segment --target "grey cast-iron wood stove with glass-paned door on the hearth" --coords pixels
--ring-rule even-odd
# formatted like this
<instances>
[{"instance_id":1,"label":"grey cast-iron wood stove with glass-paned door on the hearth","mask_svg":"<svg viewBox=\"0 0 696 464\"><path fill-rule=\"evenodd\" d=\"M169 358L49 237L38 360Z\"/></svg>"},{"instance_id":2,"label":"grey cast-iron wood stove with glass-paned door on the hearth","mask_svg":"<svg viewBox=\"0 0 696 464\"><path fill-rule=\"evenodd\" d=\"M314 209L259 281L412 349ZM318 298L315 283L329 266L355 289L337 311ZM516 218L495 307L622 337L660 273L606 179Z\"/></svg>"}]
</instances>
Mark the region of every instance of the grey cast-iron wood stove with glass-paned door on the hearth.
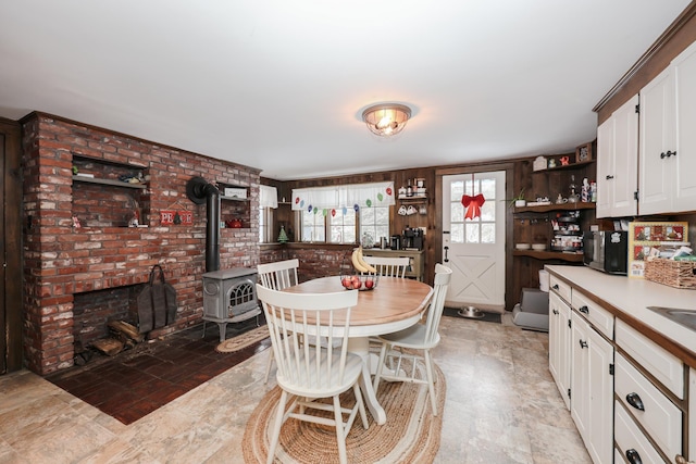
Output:
<instances>
[{"instance_id":1,"label":"grey cast-iron wood stove with glass-paned door on the hearth","mask_svg":"<svg viewBox=\"0 0 696 464\"><path fill-rule=\"evenodd\" d=\"M203 274L203 337L208 321L217 324L220 341L224 341L228 323L259 314L256 268L233 267Z\"/></svg>"}]
</instances>

